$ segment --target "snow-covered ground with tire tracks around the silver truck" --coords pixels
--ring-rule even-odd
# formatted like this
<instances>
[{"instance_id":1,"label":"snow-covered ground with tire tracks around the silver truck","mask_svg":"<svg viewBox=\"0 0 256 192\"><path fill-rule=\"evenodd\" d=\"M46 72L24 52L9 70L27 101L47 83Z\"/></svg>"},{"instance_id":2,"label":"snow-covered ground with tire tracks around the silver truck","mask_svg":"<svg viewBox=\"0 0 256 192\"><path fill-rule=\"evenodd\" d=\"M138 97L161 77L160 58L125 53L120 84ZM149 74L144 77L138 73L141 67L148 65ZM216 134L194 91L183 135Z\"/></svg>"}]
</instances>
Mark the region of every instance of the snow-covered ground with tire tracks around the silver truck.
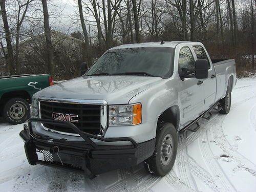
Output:
<instances>
[{"instance_id":1,"label":"snow-covered ground with tire tracks around the silver truck","mask_svg":"<svg viewBox=\"0 0 256 192\"><path fill-rule=\"evenodd\" d=\"M256 78L239 79L228 115L214 112L196 133L179 136L173 170L164 178L143 165L93 180L27 162L20 125L0 123L0 191L256 191Z\"/></svg>"}]
</instances>

